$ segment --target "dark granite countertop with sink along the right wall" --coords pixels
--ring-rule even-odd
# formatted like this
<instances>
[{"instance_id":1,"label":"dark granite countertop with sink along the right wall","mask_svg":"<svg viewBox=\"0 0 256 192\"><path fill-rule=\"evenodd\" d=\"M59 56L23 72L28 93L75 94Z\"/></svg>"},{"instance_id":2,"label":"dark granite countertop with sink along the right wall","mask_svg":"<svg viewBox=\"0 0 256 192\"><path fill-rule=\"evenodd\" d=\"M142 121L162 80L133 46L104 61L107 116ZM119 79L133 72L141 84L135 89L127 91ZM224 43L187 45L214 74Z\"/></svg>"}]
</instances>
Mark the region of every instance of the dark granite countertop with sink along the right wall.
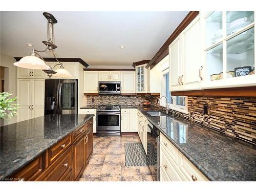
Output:
<instances>
[{"instance_id":1,"label":"dark granite countertop with sink along the right wall","mask_svg":"<svg viewBox=\"0 0 256 192\"><path fill-rule=\"evenodd\" d=\"M211 181L256 181L256 146L162 113L147 119Z\"/></svg>"}]
</instances>

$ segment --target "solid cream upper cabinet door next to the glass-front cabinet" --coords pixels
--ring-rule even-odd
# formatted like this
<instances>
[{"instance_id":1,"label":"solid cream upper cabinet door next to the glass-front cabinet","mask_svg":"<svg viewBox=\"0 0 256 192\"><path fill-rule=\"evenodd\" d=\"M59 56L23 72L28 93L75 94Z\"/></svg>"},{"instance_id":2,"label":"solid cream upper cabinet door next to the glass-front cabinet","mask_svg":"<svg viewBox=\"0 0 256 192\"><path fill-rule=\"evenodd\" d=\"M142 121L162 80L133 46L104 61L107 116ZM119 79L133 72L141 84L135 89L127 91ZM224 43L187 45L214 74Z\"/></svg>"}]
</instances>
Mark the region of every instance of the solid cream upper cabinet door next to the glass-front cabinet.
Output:
<instances>
[{"instance_id":1,"label":"solid cream upper cabinet door next to the glass-front cabinet","mask_svg":"<svg viewBox=\"0 0 256 192\"><path fill-rule=\"evenodd\" d=\"M200 20L197 16L183 32L183 58L184 65L181 75L183 83L182 90L200 89L202 77L203 60L202 60L202 40L200 35Z\"/></svg>"}]
</instances>

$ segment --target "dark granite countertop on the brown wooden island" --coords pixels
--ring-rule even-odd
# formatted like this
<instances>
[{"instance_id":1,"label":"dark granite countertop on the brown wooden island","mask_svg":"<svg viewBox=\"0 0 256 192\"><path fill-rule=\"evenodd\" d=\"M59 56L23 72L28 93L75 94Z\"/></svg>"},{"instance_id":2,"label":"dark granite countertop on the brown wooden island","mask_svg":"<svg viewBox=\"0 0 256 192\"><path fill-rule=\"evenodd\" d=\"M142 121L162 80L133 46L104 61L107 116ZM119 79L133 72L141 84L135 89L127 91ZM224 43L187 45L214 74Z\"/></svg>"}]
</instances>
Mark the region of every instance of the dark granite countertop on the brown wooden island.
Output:
<instances>
[{"instance_id":1,"label":"dark granite countertop on the brown wooden island","mask_svg":"<svg viewBox=\"0 0 256 192\"><path fill-rule=\"evenodd\" d=\"M0 127L0 179L11 176L94 115L46 115Z\"/></svg>"}]
</instances>

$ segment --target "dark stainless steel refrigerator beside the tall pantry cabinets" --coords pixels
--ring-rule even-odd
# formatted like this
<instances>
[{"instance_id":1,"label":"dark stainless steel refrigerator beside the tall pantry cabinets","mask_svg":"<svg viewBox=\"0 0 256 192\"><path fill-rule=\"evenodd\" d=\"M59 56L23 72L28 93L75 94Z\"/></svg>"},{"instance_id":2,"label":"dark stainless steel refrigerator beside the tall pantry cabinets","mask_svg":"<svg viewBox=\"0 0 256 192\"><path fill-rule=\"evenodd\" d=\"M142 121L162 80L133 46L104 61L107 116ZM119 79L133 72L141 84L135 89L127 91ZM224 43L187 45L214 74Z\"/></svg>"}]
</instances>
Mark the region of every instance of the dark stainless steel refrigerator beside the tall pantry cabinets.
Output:
<instances>
[{"instance_id":1,"label":"dark stainless steel refrigerator beside the tall pantry cabinets","mask_svg":"<svg viewBox=\"0 0 256 192\"><path fill-rule=\"evenodd\" d=\"M77 114L77 79L45 80L45 115Z\"/></svg>"}]
</instances>

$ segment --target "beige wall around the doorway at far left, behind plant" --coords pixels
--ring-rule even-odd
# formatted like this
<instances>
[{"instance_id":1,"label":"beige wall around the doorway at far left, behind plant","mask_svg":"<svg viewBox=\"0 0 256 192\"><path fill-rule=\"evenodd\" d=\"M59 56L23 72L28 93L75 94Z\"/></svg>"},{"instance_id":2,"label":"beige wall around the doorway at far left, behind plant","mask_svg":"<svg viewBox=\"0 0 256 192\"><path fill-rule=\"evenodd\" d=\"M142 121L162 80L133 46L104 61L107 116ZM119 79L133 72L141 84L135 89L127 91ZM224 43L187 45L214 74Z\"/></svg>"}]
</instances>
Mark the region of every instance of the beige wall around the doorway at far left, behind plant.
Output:
<instances>
[{"instance_id":1,"label":"beige wall around the doorway at far left, behind plant","mask_svg":"<svg viewBox=\"0 0 256 192\"><path fill-rule=\"evenodd\" d=\"M13 65L16 62L14 57L1 53L0 66L6 67L5 69L5 92L12 93L12 97L17 96L17 67ZM9 121L4 120L4 125L16 122L16 117Z\"/></svg>"}]
</instances>

